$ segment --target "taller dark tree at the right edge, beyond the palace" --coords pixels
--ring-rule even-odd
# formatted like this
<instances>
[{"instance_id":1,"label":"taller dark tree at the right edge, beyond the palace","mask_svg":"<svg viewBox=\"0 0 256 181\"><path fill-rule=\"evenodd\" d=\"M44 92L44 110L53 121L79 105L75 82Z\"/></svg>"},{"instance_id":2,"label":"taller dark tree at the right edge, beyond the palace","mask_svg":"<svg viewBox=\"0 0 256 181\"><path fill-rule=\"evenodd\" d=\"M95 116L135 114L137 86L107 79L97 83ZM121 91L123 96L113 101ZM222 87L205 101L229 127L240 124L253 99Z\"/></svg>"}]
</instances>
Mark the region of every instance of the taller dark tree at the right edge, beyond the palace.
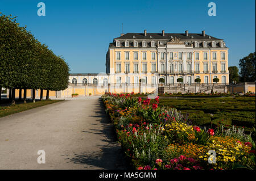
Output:
<instances>
[{"instance_id":1,"label":"taller dark tree at the right edge, beyond the palace","mask_svg":"<svg viewBox=\"0 0 256 181\"><path fill-rule=\"evenodd\" d=\"M255 81L255 52L243 57L239 61L242 82Z\"/></svg>"}]
</instances>

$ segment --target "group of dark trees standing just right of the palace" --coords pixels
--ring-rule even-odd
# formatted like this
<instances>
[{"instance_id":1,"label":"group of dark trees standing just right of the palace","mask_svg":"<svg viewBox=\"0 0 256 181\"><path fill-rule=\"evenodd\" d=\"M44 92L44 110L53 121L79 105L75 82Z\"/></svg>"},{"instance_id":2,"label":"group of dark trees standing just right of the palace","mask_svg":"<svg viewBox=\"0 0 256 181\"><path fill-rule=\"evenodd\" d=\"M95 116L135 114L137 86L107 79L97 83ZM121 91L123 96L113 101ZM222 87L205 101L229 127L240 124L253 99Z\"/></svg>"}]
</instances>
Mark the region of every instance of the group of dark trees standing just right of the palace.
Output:
<instances>
[{"instance_id":1,"label":"group of dark trees standing just right of the palace","mask_svg":"<svg viewBox=\"0 0 256 181\"><path fill-rule=\"evenodd\" d=\"M243 57L239 61L240 73L237 66L229 67L229 82L255 81L255 52Z\"/></svg>"}]
</instances>

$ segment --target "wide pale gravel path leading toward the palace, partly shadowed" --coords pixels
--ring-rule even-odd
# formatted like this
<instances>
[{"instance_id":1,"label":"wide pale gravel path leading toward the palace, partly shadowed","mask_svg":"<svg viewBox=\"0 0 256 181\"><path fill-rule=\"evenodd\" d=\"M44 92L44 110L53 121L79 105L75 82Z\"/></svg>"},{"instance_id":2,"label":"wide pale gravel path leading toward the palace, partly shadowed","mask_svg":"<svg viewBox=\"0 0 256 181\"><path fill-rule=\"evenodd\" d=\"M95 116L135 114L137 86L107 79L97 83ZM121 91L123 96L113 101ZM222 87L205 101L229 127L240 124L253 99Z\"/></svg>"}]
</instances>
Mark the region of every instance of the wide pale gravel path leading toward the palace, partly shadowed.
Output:
<instances>
[{"instance_id":1,"label":"wide pale gravel path leading toward the palace, partly shadowed","mask_svg":"<svg viewBox=\"0 0 256 181\"><path fill-rule=\"evenodd\" d=\"M46 163L38 163L38 150ZM127 169L100 97L0 118L0 169Z\"/></svg>"}]
</instances>

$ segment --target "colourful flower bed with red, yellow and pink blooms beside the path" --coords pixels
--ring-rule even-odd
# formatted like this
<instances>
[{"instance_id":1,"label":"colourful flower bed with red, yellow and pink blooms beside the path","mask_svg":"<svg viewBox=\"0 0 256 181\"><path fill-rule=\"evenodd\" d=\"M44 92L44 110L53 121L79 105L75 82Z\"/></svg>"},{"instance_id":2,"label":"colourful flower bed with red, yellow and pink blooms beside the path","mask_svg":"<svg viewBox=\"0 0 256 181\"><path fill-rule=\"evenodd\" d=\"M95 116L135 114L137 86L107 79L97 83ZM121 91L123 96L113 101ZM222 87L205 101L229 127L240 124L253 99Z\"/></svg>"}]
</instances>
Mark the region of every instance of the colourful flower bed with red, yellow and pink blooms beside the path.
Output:
<instances>
[{"instance_id":1,"label":"colourful flower bed with red, yellow and pink blooms beside the path","mask_svg":"<svg viewBox=\"0 0 256 181\"><path fill-rule=\"evenodd\" d=\"M242 128L188 125L176 109L158 107L159 97L106 93L102 100L135 169L255 169L255 142Z\"/></svg>"}]
</instances>

